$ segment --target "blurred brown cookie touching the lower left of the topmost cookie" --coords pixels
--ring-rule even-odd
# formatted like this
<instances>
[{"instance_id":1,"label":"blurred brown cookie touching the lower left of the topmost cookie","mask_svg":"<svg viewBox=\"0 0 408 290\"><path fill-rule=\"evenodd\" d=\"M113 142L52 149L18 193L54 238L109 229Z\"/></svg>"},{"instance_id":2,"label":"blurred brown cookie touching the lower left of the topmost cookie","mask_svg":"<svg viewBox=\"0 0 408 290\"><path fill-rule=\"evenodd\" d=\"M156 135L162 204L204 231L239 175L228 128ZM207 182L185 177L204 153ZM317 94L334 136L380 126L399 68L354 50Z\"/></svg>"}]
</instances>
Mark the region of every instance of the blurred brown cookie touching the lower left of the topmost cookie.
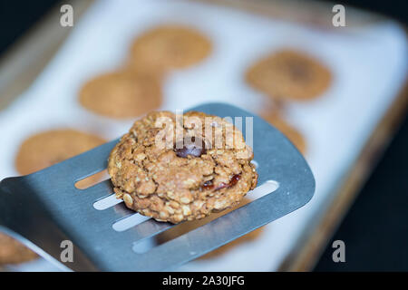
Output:
<instances>
[{"instance_id":1,"label":"blurred brown cookie touching the lower left of the topmost cookie","mask_svg":"<svg viewBox=\"0 0 408 290\"><path fill-rule=\"evenodd\" d=\"M160 77L119 71L85 83L79 101L86 109L111 118L132 118L161 104Z\"/></svg>"}]
</instances>

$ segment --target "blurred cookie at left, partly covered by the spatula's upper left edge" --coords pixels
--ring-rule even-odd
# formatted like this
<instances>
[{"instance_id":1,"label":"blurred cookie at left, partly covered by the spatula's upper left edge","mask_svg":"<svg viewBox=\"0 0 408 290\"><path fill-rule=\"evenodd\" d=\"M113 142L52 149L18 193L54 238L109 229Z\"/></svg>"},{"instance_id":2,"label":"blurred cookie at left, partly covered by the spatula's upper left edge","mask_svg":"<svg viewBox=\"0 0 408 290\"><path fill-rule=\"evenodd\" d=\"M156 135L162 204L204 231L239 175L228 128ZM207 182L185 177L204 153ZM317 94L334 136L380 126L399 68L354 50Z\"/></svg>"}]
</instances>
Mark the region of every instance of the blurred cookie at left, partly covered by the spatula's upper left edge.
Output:
<instances>
[{"instance_id":1,"label":"blurred cookie at left, partly covered by the spatula's upper left edge","mask_svg":"<svg viewBox=\"0 0 408 290\"><path fill-rule=\"evenodd\" d=\"M44 131L24 140L15 158L15 168L22 175L30 174L91 150L104 142L106 141L102 138L82 131ZM97 175L93 176L93 179L79 181L78 187L86 187L84 181L94 183L96 180L99 180Z\"/></svg>"}]
</instances>

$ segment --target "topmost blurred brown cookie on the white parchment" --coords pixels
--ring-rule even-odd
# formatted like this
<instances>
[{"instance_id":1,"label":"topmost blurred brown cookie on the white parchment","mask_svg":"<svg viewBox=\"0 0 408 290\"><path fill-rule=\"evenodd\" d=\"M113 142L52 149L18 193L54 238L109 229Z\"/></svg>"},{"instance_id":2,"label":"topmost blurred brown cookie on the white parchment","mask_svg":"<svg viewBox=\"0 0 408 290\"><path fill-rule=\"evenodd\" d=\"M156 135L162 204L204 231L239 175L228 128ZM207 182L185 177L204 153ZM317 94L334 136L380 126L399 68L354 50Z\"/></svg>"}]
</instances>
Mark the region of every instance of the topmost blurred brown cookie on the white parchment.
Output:
<instances>
[{"instance_id":1,"label":"topmost blurred brown cookie on the white parchment","mask_svg":"<svg viewBox=\"0 0 408 290\"><path fill-rule=\"evenodd\" d=\"M142 34L131 45L132 67L167 72L199 63L211 43L199 31L180 25L160 26Z\"/></svg>"}]
</instances>

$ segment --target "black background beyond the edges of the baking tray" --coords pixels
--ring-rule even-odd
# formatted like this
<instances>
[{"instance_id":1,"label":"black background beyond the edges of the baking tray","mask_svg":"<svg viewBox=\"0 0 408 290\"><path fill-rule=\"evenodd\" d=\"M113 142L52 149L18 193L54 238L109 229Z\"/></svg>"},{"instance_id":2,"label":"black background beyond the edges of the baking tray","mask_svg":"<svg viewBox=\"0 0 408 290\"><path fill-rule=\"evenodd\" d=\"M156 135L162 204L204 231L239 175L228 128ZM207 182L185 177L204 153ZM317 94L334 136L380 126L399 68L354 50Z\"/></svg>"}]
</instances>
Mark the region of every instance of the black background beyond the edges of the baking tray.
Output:
<instances>
[{"instance_id":1,"label":"black background beyond the edges of the baking tray","mask_svg":"<svg viewBox=\"0 0 408 290\"><path fill-rule=\"evenodd\" d=\"M0 57L56 0L0 0ZM340 1L408 24L408 1ZM1 97L1 96L0 96ZM407 96L408 97L408 96ZM408 271L408 119L329 242L316 271ZM345 263L334 263L334 240L345 241Z\"/></svg>"}]
</instances>

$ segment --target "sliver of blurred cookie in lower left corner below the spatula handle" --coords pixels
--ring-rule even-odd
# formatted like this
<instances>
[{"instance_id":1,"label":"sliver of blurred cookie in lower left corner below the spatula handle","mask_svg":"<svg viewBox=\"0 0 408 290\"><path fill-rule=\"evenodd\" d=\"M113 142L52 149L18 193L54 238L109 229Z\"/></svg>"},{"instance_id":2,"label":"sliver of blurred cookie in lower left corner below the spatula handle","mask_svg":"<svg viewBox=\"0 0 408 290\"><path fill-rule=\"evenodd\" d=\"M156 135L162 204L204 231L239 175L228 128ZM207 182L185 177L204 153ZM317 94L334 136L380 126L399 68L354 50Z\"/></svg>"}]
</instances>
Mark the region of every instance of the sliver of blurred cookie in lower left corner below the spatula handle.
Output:
<instances>
[{"instance_id":1,"label":"sliver of blurred cookie in lower left corner below the spatula handle","mask_svg":"<svg viewBox=\"0 0 408 290\"><path fill-rule=\"evenodd\" d=\"M33 260L36 256L13 237L0 233L0 265L23 263Z\"/></svg>"}]
</instances>

